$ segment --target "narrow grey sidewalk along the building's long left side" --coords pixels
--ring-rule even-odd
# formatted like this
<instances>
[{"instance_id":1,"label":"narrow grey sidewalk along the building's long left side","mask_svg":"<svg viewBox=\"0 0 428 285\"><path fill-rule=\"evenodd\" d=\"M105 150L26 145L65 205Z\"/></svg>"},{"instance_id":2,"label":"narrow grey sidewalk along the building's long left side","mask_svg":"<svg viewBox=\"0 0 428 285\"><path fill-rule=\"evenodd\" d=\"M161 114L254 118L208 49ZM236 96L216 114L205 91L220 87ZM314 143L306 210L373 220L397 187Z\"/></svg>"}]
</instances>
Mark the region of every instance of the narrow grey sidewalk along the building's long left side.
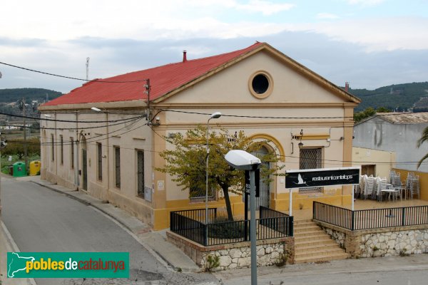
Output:
<instances>
[{"instance_id":1,"label":"narrow grey sidewalk along the building's long left side","mask_svg":"<svg viewBox=\"0 0 428 285\"><path fill-rule=\"evenodd\" d=\"M144 224L136 217L131 216L127 212L112 204L108 204L98 200L90 195L76 190L71 190L63 186L54 185L46 180L41 180L40 176L19 177L16 180L30 181L37 185L49 188L50 190L63 193L78 202L94 207L103 214L111 217L119 226L126 229L133 237L145 247L148 252L151 252L158 261L168 266L170 269L183 272L198 272L199 266L185 255L178 247L166 240L166 230L154 232L151 227Z\"/></svg>"}]
</instances>

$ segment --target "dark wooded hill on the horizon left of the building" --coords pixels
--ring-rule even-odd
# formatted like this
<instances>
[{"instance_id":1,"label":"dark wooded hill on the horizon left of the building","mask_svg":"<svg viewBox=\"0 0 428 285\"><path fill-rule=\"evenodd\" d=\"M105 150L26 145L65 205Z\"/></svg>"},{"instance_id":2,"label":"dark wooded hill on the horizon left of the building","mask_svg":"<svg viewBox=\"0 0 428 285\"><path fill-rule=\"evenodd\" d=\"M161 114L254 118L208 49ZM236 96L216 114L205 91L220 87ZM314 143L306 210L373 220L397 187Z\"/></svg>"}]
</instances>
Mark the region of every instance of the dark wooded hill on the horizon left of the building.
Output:
<instances>
[{"instance_id":1,"label":"dark wooded hill on the horizon left of the building","mask_svg":"<svg viewBox=\"0 0 428 285\"><path fill-rule=\"evenodd\" d=\"M0 89L0 103L16 102L21 98L25 98L26 103L31 103L32 100L38 100L39 103L44 103L46 94L49 100L58 98L62 95L61 92L43 88L14 88Z\"/></svg>"}]
</instances>

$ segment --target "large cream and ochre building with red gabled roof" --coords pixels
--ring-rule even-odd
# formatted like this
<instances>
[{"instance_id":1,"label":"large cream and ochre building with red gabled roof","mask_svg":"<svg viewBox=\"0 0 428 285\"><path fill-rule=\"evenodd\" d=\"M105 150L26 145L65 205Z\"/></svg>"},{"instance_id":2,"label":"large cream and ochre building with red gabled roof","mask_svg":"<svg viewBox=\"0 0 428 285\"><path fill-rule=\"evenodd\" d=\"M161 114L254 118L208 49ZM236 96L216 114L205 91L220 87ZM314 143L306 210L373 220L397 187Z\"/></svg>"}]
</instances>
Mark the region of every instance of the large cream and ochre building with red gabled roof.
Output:
<instances>
[{"instance_id":1,"label":"large cream and ochre building with red gabled roof","mask_svg":"<svg viewBox=\"0 0 428 285\"><path fill-rule=\"evenodd\" d=\"M154 229L169 226L169 212L204 208L172 177L155 170L168 138L197 125L243 130L267 140L263 151L285 169L351 166L353 108L350 93L267 43L218 56L95 80L41 106L43 179L88 192L134 214ZM95 107L95 108L94 108ZM351 203L351 187L292 190L293 209L312 201ZM284 177L263 185L264 204L288 211ZM214 197L210 207L224 207ZM231 197L243 214L243 197Z\"/></svg>"}]
</instances>

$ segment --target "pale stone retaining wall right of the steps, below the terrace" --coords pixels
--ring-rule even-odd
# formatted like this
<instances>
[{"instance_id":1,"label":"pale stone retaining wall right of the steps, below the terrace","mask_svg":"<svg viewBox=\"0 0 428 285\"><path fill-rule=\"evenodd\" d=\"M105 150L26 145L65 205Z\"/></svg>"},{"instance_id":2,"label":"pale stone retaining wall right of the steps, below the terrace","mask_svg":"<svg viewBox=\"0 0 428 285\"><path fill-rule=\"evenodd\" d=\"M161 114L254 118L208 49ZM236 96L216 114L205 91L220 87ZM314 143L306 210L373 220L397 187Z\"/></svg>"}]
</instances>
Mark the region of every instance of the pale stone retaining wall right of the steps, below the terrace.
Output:
<instances>
[{"instance_id":1,"label":"pale stone retaining wall right of the steps, below the terrace","mask_svg":"<svg viewBox=\"0 0 428 285\"><path fill-rule=\"evenodd\" d=\"M314 221L351 257L428 253L428 225L350 231Z\"/></svg>"}]
</instances>

